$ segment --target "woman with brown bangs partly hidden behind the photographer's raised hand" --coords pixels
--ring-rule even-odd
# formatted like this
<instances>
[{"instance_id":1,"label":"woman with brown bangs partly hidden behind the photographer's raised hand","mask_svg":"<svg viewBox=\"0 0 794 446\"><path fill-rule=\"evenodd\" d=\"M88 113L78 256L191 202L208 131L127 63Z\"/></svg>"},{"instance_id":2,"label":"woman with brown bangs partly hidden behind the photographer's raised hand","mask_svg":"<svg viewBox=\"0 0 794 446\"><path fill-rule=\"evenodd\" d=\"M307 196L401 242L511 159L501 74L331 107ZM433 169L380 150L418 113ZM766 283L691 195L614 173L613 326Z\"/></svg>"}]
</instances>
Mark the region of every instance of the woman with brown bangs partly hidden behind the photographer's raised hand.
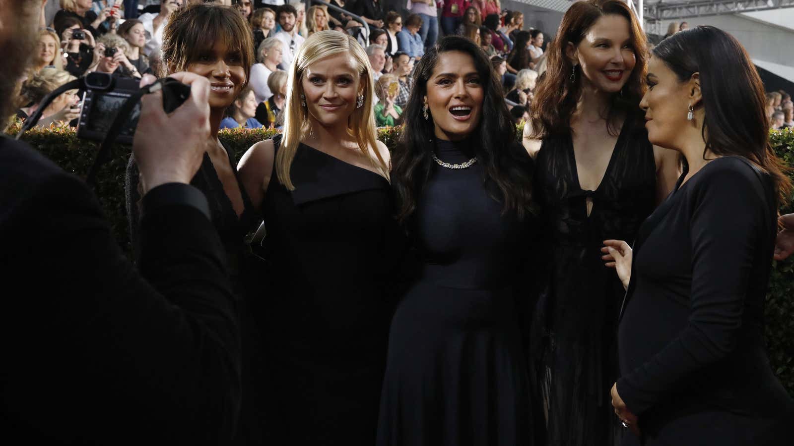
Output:
<instances>
[{"instance_id":1,"label":"woman with brown bangs partly hidden behind the photographer's raised hand","mask_svg":"<svg viewBox=\"0 0 794 446\"><path fill-rule=\"evenodd\" d=\"M245 234L256 227L256 211L237 175L231 148L218 140L218 130L225 110L249 83L253 63L251 29L245 18L233 6L214 3L194 3L175 10L163 32L163 67L160 75L190 71L210 81L210 128L206 153L191 184L206 195L213 224L218 229L229 260L229 274L237 296L243 337L241 339L243 369L241 371L242 406L237 422L235 443L259 443L262 440L262 420L257 404L258 383L262 379L258 367L261 355L257 347L258 335L250 320L249 296L245 293L243 271ZM138 169L134 156L127 165L126 193L130 239L137 255L140 238L138 202Z\"/></svg>"}]
</instances>

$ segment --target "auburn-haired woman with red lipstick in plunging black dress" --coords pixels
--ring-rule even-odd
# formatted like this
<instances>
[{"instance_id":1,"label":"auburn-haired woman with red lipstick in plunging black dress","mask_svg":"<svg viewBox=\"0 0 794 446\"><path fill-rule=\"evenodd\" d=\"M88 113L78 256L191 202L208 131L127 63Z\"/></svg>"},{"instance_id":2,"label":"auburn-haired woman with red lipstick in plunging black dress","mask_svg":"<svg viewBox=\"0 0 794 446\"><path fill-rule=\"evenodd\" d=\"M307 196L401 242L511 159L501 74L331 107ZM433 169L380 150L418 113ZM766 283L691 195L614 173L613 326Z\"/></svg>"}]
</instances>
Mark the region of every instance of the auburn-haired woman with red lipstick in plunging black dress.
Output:
<instances>
[{"instance_id":1,"label":"auburn-haired woman with red lipstick in plunging black dress","mask_svg":"<svg viewBox=\"0 0 794 446\"><path fill-rule=\"evenodd\" d=\"M618 375L623 287L603 240L634 240L669 193L676 153L654 148L639 110L646 42L620 0L573 2L546 51L524 144L537 162L548 261L532 340L549 444L614 444L606 389Z\"/></svg>"}]
</instances>

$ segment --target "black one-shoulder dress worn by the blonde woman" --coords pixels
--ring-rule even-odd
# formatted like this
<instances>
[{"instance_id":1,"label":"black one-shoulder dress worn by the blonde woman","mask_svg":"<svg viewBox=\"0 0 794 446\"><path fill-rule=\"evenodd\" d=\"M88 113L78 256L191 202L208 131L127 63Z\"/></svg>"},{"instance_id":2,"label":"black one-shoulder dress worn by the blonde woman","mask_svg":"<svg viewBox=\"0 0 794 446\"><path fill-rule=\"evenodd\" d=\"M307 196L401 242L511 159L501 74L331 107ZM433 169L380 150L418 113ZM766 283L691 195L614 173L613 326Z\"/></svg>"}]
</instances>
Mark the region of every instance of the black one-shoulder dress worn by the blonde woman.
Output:
<instances>
[{"instance_id":1,"label":"black one-shoulder dress worn by the blonde woman","mask_svg":"<svg viewBox=\"0 0 794 446\"><path fill-rule=\"evenodd\" d=\"M274 167L261 206L268 444L372 446L394 310L390 186L306 144L290 174L291 191Z\"/></svg>"}]
</instances>

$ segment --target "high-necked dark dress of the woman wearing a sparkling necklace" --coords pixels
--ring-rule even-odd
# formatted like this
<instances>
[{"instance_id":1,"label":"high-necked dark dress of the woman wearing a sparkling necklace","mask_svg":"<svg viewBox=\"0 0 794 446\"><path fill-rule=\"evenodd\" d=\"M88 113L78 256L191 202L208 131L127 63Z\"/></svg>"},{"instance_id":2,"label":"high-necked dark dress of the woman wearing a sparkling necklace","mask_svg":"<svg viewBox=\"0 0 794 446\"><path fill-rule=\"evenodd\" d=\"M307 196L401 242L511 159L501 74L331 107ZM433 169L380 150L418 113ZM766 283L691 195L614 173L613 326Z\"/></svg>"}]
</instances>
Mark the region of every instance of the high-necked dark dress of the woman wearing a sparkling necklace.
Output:
<instances>
[{"instance_id":1,"label":"high-necked dark dress of the woman wearing a sparkling necklace","mask_svg":"<svg viewBox=\"0 0 794 446\"><path fill-rule=\"evenodd\" d=\"M471 158L465 143L436 149L448 163ZM410 232L423 261L391 321L379 446L532 443L515 284L534 219L503 215L483 178L479 163L434 163L418 198Z\"/></svg>"}]
</instances>

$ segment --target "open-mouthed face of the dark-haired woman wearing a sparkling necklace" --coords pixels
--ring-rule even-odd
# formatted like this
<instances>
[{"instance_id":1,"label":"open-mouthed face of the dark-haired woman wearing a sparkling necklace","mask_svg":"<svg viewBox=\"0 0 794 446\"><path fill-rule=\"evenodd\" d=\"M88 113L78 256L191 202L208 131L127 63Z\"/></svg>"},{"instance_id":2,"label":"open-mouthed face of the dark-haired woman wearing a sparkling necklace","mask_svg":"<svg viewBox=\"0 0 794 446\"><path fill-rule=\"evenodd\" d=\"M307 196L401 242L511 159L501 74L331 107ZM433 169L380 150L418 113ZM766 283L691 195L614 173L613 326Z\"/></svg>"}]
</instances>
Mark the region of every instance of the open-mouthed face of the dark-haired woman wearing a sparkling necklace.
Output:
<instances>
[{"instance_id":1,"label":"open-mouthed face of the dark-haired woman wearing a sparkling necklace","mask_svg":"<svg viewBox=\"0 0 794 446\"><path fill-rule=\"evenodd\" d=\"M472 56L459 51L438 55L425 96L437 138L461 140L480 125L483 82Z\"/></svg>"}]
</instances>

